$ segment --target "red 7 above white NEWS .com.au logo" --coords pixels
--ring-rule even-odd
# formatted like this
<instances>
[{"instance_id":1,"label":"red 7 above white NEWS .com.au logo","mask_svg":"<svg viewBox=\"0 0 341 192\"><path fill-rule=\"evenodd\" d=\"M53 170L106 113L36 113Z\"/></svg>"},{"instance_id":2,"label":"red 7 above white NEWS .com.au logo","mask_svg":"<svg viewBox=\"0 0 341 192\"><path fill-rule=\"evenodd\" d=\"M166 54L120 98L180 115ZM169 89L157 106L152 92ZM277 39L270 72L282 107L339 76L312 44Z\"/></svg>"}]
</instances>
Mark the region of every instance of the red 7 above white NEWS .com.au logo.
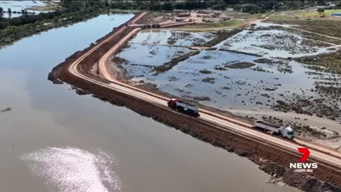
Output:
<instances>
[{"instance_id":1,"label":"red 7 above white NEWS .com.au logo","mask_svg":"<svg viewBox=\"0 0 341 192\"><path fill-rule=\"evenodd\" d=\"M290 169L294 169L295 172L313 172L313 169L318 169L317 163L305 163L310 154L308 148L298 148L298 152L303 154L300 163L290 163Z\"/></svg>"}]
</instances>

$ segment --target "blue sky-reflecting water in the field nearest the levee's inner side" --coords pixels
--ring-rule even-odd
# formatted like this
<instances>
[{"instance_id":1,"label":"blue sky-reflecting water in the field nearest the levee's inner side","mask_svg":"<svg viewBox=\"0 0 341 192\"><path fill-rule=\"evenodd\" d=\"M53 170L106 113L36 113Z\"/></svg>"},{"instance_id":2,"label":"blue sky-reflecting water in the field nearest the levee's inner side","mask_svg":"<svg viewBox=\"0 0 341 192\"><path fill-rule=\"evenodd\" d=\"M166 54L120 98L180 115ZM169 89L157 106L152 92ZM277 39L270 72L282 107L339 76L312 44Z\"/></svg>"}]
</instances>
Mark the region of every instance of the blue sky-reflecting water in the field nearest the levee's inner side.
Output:
<instances>
[{"instance_id":1,"label":"blue sky-reflecting water in the field nearest the levee's inner side","mask_svg":"<svg viewBox=\"0 0 341 192\"><path fill-rule=\"evenodd\" d=\"M133 54L136 50L141 51ZM328 81L330 73L315 74L314 70L301 63L280 59L273 59L274 63L256 63L256 56L222 50L202 50L171 70L153 75L154 66L163 65L170 59L151 53L181 55L188 51L185 48L133 43L120 56L127 60L122 66L133 80L154 83L161 90L179 97L208 97L202 101L203 104L225 110L270 109L276 100L291 100L293 95L302 95L302 90L307 90L305 97L318 98L320 96L316 92L309 91L315 87L317 79L324 78L326 82L331 82ZM229 65L239 62L253 63L253 66L229 68ZM333 77L334 82L341 81L341 76ZM203 82L205 78L212 78L212 82Z\"/></svg>"}]
</instances>

